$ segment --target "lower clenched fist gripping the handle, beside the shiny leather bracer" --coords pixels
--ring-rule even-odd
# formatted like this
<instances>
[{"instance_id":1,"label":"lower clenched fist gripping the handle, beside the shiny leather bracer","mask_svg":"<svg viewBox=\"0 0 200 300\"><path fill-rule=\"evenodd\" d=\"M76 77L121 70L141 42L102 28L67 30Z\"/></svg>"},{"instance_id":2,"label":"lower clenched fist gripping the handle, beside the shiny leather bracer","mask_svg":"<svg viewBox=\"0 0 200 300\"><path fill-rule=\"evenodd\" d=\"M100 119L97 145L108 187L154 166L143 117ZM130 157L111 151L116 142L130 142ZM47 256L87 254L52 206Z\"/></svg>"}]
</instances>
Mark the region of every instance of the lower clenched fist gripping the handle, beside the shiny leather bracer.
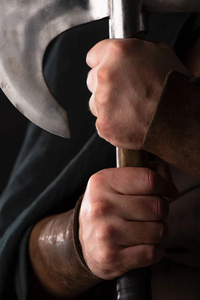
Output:
<instances>
[{"instance_id":1,"label":"lower clenched fist gripping the handle, beside the shiny leather bracer","mask_svg":"<svg viewBox=\"0 0 200 300\"><path fill-rule=\"evenodd\" d=\"M104 169L94 174L79 213L79 240L90 270L113 279L164 255L168 202L177 196L168 166Z\"/></svg>"}]
</instances>

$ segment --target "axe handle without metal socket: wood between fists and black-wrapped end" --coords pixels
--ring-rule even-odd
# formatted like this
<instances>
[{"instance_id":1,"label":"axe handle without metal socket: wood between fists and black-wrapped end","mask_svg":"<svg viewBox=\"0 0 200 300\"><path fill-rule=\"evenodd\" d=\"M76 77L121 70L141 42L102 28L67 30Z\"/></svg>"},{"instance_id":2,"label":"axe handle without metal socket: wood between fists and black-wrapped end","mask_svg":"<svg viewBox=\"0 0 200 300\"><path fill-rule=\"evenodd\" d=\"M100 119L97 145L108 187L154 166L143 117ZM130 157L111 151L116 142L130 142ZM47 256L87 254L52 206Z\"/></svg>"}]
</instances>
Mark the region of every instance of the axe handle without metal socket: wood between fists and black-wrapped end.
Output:
<instances>
[{"instance_id":1,"label":"axe handle without metal socket: wood between fists and black-wrapped end","mask_svg":"<svg viewBox=\"0 0 200 300\"><path fill-rule=\"evenodd\" d=\"M145 33L134 36L144 40ZM116 148L117 166L148 167L148 153L145 151ZM150 267L133 269L116 279L117 300L151 300Z\"/></svg>"}]
</instances>

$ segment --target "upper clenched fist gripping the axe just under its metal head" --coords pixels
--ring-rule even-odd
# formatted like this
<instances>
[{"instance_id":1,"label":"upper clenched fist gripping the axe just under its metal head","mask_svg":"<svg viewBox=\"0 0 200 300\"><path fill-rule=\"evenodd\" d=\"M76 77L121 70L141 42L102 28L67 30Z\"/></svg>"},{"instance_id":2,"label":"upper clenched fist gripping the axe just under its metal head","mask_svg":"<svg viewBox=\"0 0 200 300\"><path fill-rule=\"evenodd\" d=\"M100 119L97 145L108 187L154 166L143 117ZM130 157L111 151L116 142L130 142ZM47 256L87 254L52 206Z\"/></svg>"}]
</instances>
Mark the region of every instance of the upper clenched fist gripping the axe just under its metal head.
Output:
<instances>
[{"instance_id":1,"label":"upper clenched fist gripping the axe just under its metal head","mask_svg":"<svg viewBox=\"0 0 200 300\"><path fill-rule=\"evenodd\" d=\"M139 150L155 113L165 77L188 74L164 42L108 39L87 54L87 86L98 134L114 146Z\"/></svg>"}]
</instances>

